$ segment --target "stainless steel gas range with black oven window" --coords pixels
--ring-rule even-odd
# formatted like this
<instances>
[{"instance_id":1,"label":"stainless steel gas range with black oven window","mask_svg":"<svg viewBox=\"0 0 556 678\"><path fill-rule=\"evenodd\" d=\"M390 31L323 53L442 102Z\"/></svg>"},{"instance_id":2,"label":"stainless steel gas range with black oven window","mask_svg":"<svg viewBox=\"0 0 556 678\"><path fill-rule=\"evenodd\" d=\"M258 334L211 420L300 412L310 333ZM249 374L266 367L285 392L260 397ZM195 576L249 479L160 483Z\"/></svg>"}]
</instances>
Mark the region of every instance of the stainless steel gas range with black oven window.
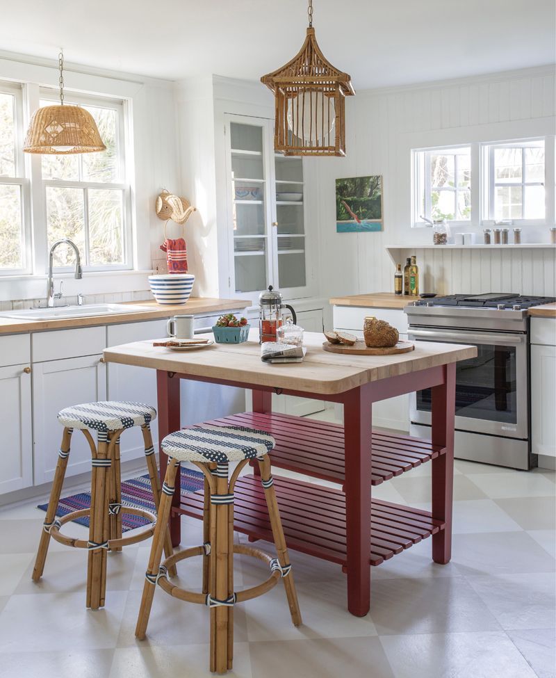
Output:
<instances>
[{"instance_id":1,"label":"stainless steel gas range with black oven window","mask_svg":"<svg viewBox=\"0 0 556 678\"><path fill-rule=\"evenodd\" d=\"M477 357L456 368L456 457L516 469L537 465L530 446L527 309L554 301L453 294L404 308L409 339L477 346ZM411 435L429 437L430 408L430 390L411 394Z\"/></svg>"}]
</instances>

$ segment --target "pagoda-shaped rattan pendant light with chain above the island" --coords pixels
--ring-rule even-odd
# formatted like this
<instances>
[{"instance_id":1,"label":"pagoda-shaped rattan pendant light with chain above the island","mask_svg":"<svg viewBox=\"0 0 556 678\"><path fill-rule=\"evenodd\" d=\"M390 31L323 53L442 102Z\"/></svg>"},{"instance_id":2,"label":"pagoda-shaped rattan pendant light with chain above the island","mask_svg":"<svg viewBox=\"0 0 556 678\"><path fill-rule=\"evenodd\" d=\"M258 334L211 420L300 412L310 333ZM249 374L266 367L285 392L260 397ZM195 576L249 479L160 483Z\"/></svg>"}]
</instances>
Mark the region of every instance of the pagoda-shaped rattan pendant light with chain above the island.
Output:
<instances>
[{"instance_id":1,"label":"pagoda-shaped rattan pendant light with chain above the island","mask_svg":"<svg viewBox=\"0 0 556 678\"><path fill-rule=\"evenodd\" d=\"M303 47L261 78L275 95L275 150L284 155L344 156L345 97L355 94L347 73L325 59L313 29L313 1Z\"/></svg>"}]
</instances>

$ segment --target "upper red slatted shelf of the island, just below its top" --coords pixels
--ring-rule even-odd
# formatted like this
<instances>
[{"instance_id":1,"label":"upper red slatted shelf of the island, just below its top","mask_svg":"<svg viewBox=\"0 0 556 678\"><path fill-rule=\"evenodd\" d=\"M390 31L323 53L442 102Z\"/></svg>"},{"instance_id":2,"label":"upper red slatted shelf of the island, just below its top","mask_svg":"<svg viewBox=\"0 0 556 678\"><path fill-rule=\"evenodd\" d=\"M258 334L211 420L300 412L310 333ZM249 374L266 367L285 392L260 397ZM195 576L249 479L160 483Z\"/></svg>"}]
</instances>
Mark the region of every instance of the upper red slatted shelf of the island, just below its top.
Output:
<instances>
[{"instance_id":1,"label":"upper red slatted shelf of the island, just below its top","mask_svg":"<svg viewBox=\"0 0 556 678\"><path fill-rule=\"evenodd\" d=\"M332 483L344 481L343 426L277 412L242 412L210 423L259 428L270 433L276 440L270 453L275 468ZM371 485L380 485L445 453L445 448L434 446L430 440L378 430L373 430L372 445Z\"/></svg>"}]
</instances>

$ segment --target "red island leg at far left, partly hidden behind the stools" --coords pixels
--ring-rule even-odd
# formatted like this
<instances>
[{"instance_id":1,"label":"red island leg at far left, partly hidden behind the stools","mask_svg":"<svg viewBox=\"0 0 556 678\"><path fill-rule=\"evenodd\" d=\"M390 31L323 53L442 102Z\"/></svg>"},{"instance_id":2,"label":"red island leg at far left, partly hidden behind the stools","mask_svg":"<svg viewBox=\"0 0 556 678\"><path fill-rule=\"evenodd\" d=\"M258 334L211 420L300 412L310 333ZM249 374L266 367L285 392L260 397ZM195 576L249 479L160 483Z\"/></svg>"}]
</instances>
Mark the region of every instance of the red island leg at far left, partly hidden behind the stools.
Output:
<instances>
[{"instance_id":1,"label":"red island leg at far left, partly hidden behind the stools","mask_svg":"<svg viewBox=\"0 0 556 678\"><path fill-rule=\"evenodd\" d=\"M163 453L161 442L169 433L175 433L181 428L180 403L179 403L179 377L170 376L172 373L164 370L156 371L156 394L158 400L158 446L160 450L160 476L161 483L164 482L168 458ZM172 497L172 508L179 507L180 479L175 483L174 497ZM181 542L181 522L180 515L170 512L170 540L172 546L179 546Z\"/></svg>"}]
</instances>

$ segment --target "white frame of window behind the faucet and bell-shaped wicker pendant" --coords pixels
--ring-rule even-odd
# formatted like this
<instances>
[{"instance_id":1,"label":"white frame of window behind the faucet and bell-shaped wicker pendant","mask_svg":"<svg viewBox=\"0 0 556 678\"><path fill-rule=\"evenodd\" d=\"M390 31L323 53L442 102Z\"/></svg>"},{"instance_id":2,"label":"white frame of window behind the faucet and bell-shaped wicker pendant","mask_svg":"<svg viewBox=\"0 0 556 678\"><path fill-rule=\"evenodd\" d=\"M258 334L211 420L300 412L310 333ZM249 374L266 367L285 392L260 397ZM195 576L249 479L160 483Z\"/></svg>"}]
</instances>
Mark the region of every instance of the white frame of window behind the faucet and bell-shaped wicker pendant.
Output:
<instances>
[{"instance_id":1,"label":"white frame of window behind the faucet and bell-shaped wicker pendant","mask_svg":"<svg viewBox=\"0 0 556 678\"><path fill-rule=\"evenodd\" d=\"M41 207L44 219L44 232L41 234L42 241L48 243L48 225L47 225L47 187L56 188L82 188L83 189L83 227L85 236L85 252L83 252L83 261L89 259L89 211L88 211L88 191L95 188L104 188L105 190L122 191L122 253L124 263L122 264L104 264L101 266L90 266L83 264L83 271L86 273L111 272L111 271L129 271L133 269L133 227L131 222L131 183L128 181L128 167L126 159L126 106L122 99L112 99L111 97L91 97L79 95L70 90L65 90L66 98L69 104L78 104L80 106L96 106L98 108L113 108L117 111L118 138L117 138L117 156L120 181L70 181L67 179L43 179L42 167L39 164L41 184ZM55 88L39 88L38 98L40 101L51 101L56 104L58 99L58 90ZM123 179L123 181L122 181ZM56 273L69 273L73 271L73 266L55 266Z\"/></svg>"}]
</instances>

